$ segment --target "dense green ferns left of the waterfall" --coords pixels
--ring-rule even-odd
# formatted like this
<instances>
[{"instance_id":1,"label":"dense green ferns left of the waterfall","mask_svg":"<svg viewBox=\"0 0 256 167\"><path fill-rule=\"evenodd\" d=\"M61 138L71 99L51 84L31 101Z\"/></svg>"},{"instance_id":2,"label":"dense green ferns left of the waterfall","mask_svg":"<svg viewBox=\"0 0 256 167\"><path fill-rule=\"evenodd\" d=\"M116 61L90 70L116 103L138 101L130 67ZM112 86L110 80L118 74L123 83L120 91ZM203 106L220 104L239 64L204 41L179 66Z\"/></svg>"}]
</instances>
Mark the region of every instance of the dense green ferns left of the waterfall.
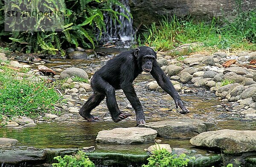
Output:
<instances>
[{"instance_id":1,"label":"dense green ferns left of the waterfall","mask_svg":"<svg viewBox=\"0 0 256 167\"><path fill-rule=\"evenodd\" d=\"M6 1L6 6L11 11L21 10L21 2L23 1L9 0ZM50 11L53 15L42 15L42 17L35 17L35 20L31 20L29 24L31 23L31 27L38 28L36 31L33 29L23 32L17 31L17 23L10 22L10 28L14 31L5 32L3 28L4 10L1 8L0 40L8 37L14 49L20 52L47 52L49 54L61 52L61 54L64 54L63 48L77 47L78 45L94 48L95 42L101 37L102 31L106 30L104 14L110 15L113 19L116 19L116 22L119 22L119 15L128 18L124 13L113 10L113 7L118 5L127 11L118 0L45 0L44 3L38 2L24 1L25 4L23 5L26 7L31 6L31 3L36 3L32 5L29 11L41 11L41 8L44 8L44 11ZM3 6L2 0L0 5ZM18 26L29 27L26 18L21 17L21 20ZM50 29L44 28L43 25L49 20L54 24Z\"/></svg>"}]
</instances>

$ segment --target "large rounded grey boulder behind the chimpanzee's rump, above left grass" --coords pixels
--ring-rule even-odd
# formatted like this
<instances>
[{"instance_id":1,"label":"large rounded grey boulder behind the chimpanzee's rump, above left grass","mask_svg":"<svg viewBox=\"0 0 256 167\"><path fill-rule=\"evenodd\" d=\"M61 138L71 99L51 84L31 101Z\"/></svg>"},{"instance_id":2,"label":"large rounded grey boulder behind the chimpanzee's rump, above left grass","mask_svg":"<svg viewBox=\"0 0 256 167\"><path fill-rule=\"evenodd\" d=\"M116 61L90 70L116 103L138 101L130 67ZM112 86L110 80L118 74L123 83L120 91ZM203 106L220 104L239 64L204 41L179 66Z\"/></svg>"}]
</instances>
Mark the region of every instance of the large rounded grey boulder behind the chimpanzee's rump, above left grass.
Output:
<instances>
[{"instance_id":1,"label":"large rounded grey boulder behind the chimpanzee's rump, above left grass","mask_svg":"<svg viewBox=\"0 0 256 167\"><path fill-rule=\"evenodd\" d=\"M60 74L60 79L70 78L71 76L78 76L83 79L88 79L87 73L81 68L67 68Z\"/></svg>"}]
</instances>

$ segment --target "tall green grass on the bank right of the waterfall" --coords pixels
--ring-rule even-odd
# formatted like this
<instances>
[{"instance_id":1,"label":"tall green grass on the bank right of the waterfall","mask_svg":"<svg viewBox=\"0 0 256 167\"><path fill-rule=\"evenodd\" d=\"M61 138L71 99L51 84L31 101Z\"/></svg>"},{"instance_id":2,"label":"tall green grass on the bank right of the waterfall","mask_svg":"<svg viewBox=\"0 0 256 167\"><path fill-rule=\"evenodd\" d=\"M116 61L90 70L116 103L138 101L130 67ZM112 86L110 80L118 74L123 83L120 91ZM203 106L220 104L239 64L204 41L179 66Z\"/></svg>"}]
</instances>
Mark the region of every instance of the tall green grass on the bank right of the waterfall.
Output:
<instances>
[{"instance_id":1,"label":"tall green grass on the bank right of the waterfall","mask_svg":"<svg viewBox=\"0 0 256 167\"><path fill-rule=\"evenodd\" d=\"M201 50L256 50L256 10L243 12L230 20L219 21L213 18L210 23L193 18L180 19L173 16L164 18L159 25L152 23L137 38L138 45L154 46L167 51L179 45L202 42L192 51ZM176 55L182 53L177 52Z\"/></svg>"}]
</instances>

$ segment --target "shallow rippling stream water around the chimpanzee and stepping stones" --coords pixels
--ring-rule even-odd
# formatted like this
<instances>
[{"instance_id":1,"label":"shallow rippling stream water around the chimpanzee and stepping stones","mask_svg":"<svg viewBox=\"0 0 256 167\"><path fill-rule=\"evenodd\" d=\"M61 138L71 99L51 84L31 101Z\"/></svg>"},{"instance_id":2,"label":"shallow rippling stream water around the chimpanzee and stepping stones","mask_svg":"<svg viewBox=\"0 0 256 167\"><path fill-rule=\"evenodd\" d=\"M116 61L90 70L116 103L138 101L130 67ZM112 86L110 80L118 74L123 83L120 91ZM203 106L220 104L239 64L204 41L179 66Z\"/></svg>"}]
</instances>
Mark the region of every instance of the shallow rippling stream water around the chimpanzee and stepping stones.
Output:
<instances>
[{"instance_id":1,"label":"shallow rippling stream water around the chimpanzee and stepping stones","mask_svg":"<svg viewBox=\"0 0 256 167\"><path fill-rule=\"evenodd\" d=\"M62 60L53 59L52 63L47 63L50 68L79 67L84 68L89 78L94 71L98 70L100 66L104 65L107 59L95 58L92 60ZM214 122L219 129L234 129L234 130L256 130L256 122L241 122L228 120L230 116L225 118L220 117L225 114L225 104L216 98L215 94L209 90L202 88L190 87L195 93L181 94L181 98L185 105L191 111L187 115L177 113L175 104L171 96L166 93L156 91L147 91L145 85L154 79L150 74L141 74L135 81L134 87L137 95L143 105L145 111L146 121L160 121L169 118L195 118L208 122ZM187 85L186 85L187 86ZM189 87L189 86L188 86ZM122 91L116 91L116 99L119 107L122 109L128 105L128 100L125 98ZM120 103L123 103L120 106ZM94 109L97 111L104 111L108 113L106 105ZM217 105L221 105L216 107ZM134 110L125 108L134 115ZM112 121L99 121L96 123L74 121L70 123L43 123L36 127L28 127L20 130L0 128L0 137L14 138L19 141L18 146L32 146L38 148L81 148L95 146L96 150L103 152L122 152L122 153L145 153L144 149L154 143L146 144L129 144L129 145L115 145L115 144L99 144L95 142L96 135L100 130L113 129L115 127L134 127L136 122L135 117L131 120L114 123ZM195 149L189 144L188 140L163 139L162 144L170 144L172 148L188 148ZM198 150L198 152L204 152Z\"/></svg>"}]
</instances>

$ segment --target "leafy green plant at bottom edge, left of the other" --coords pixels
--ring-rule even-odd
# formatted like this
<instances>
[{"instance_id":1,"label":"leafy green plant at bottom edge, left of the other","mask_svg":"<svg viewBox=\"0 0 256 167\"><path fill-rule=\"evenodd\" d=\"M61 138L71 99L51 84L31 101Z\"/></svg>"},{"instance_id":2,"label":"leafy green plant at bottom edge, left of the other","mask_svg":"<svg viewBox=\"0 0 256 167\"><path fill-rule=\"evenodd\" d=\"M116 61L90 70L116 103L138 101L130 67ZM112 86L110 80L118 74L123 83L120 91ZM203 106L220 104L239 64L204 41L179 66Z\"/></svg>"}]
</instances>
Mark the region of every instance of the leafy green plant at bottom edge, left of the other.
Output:
<instances>
[{"instance_id":1,"label":"leafy green plant at bottom edge, left of the other","mask_svg":"<svg viewBox=\"0 0 256 167\"><path fill-rule=\"evenodd\" d=\"M85 153L79 150L75 155L56 156L54 159L58 160L58 163L52 164L52 167L95 167L92 161L85 155Z\"/></svg>"}]
</instances>

